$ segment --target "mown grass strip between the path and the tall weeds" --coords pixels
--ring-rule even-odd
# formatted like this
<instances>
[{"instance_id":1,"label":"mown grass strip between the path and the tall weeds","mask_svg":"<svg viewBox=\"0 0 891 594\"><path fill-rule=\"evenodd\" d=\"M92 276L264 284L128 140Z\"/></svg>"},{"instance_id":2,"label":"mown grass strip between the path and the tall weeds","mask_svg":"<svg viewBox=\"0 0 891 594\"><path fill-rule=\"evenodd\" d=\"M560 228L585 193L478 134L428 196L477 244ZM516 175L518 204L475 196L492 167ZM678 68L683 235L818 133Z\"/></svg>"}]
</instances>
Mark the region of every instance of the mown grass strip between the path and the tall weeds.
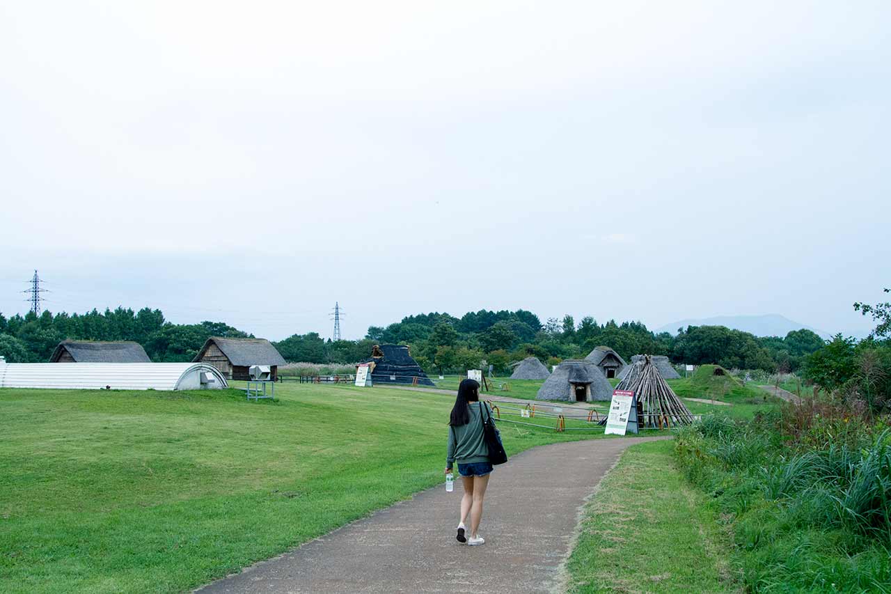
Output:
<instances>
[{"instance_id":1,"label":"mown grass strip between the path and the tall weeds","mask_svg":"<svg viewBox=\"0 0 891 594\"><path fill-rule=\"evenodd\" d=\"M570 592L740 591L706 496L674 466L672 441L632 446L584 509Z\"/></svg>"}]
</instances>

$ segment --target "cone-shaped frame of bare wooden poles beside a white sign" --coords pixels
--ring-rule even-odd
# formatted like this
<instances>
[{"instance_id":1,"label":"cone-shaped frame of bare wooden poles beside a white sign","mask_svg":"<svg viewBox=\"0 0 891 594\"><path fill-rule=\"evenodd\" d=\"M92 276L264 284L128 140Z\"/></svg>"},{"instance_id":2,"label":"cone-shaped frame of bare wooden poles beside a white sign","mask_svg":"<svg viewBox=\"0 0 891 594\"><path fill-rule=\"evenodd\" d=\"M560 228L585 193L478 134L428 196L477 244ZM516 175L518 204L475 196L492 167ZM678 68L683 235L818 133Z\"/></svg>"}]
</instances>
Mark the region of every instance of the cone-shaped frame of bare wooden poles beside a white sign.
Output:
<instances>
[{"instance_id":1,"label":"cone-shaped frame of bare wooden poles beside a white sign","mask_svg":"<svg viewBox=\"0 0 891 594\"><path fill-rule=\"evenodd\" d=\"M663 379L658 366L649 355L631 366L616 389L631 390L637 396L641 411L639 422L644 427L661 429L674 425L691 425L695 418Z\"/></svg>"}]
</instances>

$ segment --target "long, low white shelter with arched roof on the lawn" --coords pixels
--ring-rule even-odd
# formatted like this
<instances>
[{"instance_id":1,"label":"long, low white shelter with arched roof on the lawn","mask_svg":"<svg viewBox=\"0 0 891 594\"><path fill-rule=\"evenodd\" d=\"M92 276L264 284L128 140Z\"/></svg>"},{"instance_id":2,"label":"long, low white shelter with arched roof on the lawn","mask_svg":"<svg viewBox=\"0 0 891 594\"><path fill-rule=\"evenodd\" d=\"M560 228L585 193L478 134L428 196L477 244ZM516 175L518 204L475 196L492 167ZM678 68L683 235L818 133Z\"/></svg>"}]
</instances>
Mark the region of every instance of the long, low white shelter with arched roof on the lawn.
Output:
<instances>
[{"instance_id":1,"label":"long, low white shelter with arched roof on the lawn","mask_svg":"<svg viewBox=\"0 0 891 594\"><path fill-rule=\"evenodd\" d=\"M214 390L225 377L207 363L0 363L0 388Z\"/></svg>"}]
</instances>

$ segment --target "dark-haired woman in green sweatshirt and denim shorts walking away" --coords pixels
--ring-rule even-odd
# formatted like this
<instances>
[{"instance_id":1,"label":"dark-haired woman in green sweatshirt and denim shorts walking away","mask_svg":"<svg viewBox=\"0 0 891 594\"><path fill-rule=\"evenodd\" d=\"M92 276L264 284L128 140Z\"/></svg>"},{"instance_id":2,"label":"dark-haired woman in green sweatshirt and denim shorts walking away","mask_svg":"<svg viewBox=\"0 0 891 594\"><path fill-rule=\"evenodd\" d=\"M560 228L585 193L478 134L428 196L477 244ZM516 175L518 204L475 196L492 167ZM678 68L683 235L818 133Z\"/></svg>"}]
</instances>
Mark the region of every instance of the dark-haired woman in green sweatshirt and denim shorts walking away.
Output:
<instances>
[{"instance_id":1,"label":"dark-haired woman in green sweatshirt and denim shorts walking away","mask_svg":"<svg viewBox=\"0 0 891 594\"><path fill-rule=\"evenodd\" d=\"M479 401L479 384L475 380L463 380L458 386L458 398L454 401L448 428L448 455L446 474L452 472L454 462L458 462L458 473L464 485L461 499L461 520L458 522L458 542L470 546L483 544L479 536L479 520L483 517L483 498L492 464L489 450L483 439L483 423L492 418L492 409ZM497 430L496 430L497 431ZM470 538L467 538L464 522L470 515Z\"/></svg>"}]
</instances>

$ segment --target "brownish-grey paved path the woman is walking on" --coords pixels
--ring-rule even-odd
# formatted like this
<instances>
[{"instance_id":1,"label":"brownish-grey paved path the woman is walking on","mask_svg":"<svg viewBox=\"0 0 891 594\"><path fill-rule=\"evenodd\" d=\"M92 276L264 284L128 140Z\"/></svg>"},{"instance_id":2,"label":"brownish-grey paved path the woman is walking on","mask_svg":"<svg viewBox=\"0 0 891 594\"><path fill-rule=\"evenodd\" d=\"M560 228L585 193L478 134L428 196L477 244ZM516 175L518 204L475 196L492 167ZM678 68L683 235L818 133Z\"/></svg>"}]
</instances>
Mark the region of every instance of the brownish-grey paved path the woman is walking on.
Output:
<instances>
[{"instance_id":1,"label":"brownish-grey paved path the woman is walking on","mask_svg":"<svg viewBox=\"0 0 891 594\"><path fill-rule=\"evenodd\" d=\"M200 592L547 592L560 587L584 499L626 447L659 438L541 446L492 475L481 547L454 540L461 483L422 491Z\"/></svg>"}]
</instances>

